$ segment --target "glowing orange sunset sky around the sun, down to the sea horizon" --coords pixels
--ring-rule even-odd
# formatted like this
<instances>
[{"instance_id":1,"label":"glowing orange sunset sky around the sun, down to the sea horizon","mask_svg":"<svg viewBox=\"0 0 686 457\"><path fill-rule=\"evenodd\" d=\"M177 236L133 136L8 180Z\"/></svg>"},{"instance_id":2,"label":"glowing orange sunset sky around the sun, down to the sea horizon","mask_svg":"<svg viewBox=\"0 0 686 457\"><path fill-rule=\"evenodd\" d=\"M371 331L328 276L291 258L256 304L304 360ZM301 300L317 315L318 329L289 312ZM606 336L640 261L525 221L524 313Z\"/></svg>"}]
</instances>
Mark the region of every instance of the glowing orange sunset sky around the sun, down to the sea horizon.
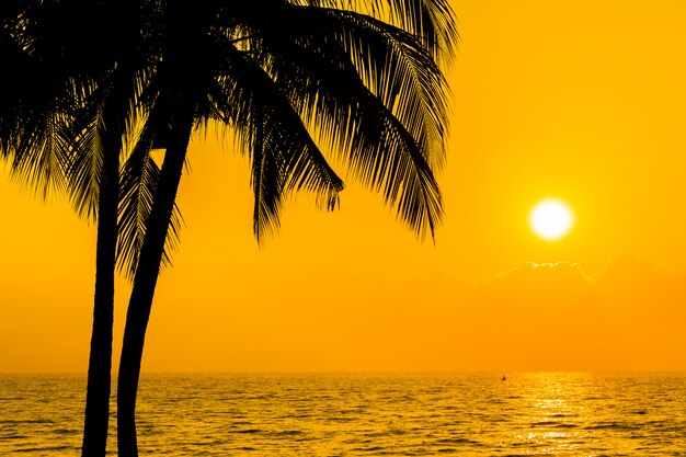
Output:
<instances>
[{"instance_id":1,"label":"glowing orange sunset sky around the sun, down to the sea horizon","mask_svg":"<svg viewBox=\"0 0 686 457\"><path fill-rule=\"evenodd\" d=\"M453 1L435 245L348 182L260 248L245 161L194 141L144 370L686 369L686 2L487 3ZM7 175L0 372L84 372L95 229ZM557 242L527 226L547 196L576 216Z\"/></svg>"}]
</instances>

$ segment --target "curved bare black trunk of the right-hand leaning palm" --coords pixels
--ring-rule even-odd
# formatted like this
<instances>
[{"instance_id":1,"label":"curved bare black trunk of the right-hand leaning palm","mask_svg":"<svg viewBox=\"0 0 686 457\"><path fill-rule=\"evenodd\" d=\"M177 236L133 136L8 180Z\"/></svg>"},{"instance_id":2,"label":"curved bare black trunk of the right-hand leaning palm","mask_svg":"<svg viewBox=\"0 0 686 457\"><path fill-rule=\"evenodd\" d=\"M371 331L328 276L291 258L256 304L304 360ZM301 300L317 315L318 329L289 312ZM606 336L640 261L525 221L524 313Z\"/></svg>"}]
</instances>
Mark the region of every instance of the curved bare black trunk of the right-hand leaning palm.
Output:
<instances>
[{"instance_id":1,"label":"curved bare black trunk of the right-hand leaning palm","mask_svg":"<svg viewBox=\"0 0 686 457\"><path fill-rule=\"evenodd\" d=\"M191 138L193 127L192 111L185 110L183 121L178 122L175 126L176 128L172 133L164 155L160 182L150 212L126 313L124 345L122 347L117 381L117 441L119 457L138 456L136 396L140 378L140 363L142 361L142 350L152 308L155 287L162 262L164 240L167 239L167 231Z\"/></svg>"}]
</instances>

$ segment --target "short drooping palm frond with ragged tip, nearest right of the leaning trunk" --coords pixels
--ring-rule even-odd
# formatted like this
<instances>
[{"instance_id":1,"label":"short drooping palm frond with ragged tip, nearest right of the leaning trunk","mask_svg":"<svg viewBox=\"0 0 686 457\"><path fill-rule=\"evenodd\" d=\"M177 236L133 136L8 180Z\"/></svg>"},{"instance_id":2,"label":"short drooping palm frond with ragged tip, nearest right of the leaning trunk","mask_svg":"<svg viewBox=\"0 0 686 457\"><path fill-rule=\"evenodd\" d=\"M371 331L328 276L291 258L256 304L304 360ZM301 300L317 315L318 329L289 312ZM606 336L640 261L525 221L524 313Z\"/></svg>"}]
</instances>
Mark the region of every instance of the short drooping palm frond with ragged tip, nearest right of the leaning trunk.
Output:
<instances>
[{"instance_id":1,"label":"short drooping palm frond with ragged tip, nearest right of the leaning trunk","mask_svg":"<svg viewBox=\"0 0 686 457\"><path fill-rule=\"evenodd\" d=\"M215 103L238 132L252 158L254 232L275 230L284 194L313 192L320 206L332 209L343 182L312 140L286 93L247 53L227 53L227 76L218 79Z\"/></svg>"}]
</instances>

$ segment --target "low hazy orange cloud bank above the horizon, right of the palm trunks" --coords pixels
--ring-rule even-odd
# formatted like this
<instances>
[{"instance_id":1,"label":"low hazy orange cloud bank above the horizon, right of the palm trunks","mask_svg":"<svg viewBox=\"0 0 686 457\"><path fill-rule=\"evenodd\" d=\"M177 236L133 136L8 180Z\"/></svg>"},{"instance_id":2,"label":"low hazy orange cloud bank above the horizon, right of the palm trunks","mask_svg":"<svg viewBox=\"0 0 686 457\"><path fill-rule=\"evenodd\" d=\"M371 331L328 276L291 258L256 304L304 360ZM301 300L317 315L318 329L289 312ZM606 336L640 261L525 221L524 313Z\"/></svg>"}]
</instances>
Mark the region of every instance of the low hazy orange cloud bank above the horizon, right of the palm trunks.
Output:
<instances>
[{"instance_id":1,"label":"low hazy orange cloud bank above the horizon, right of the palm trunks","mask_svg":"<svg viewBox=\"0 0 686 457\"><path fill-rule=\"evenodd\" d=\"M208 304L188 313L186 306L168 307L156 329L165 322L173 328L160 333L164 340L152 335L150 354L158 362L149 366L686 370L685 279L631 256L614 260L595 277L573 263L524 263L481 283L443 272L301 288L285 274L272 277L254 302L227 294L224 307ZM179 338L180 331L187 333Z\"/></svg>"}]
</instances>

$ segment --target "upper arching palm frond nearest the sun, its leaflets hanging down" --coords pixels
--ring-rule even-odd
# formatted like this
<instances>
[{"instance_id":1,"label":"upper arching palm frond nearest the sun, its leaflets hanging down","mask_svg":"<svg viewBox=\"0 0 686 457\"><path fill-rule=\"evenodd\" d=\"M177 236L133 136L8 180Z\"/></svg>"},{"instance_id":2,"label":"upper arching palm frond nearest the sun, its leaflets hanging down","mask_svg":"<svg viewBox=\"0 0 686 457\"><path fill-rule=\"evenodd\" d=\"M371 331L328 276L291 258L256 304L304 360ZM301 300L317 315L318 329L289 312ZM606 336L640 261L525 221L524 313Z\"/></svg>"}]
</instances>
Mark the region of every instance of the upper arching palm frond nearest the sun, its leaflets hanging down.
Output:
<instances>
[{"instance_id":1,"label":"upper arching palm frond nearest the sun, its leaflets hanging down","mask_svg":"<svg viewBox=\"0 0 686 457\"><path fill-rule=\"evenodd\" d=\"M333 32L351 56L365 85L423 145L432 168L441 168L445 163L449 91L442 71L426 49L413 35L366 15L335 10L301 12L309 19L307 23L317 23L328 33ZM307 39L322 55L339 52L317 45L321 41L316 34Z\"/></svg>"}]
</instances>

